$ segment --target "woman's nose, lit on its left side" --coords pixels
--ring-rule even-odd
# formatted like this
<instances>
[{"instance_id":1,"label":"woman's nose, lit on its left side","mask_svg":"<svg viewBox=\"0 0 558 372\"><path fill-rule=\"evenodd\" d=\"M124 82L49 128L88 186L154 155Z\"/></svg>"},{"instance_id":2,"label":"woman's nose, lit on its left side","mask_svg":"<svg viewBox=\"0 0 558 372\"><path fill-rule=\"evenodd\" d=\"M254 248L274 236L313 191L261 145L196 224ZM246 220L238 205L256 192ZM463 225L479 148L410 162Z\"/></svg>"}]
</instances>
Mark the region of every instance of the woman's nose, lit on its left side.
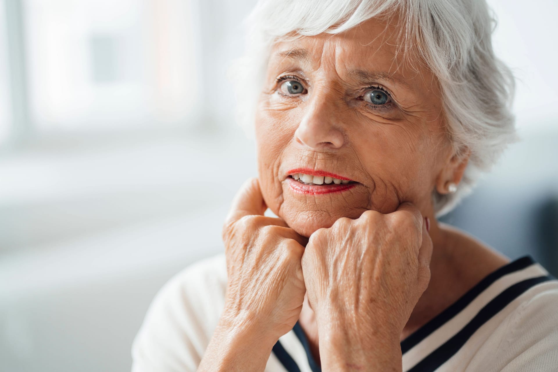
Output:
<instances>
[{"instance_id":1,"label":"woman's nose, lit on its left side","mask_svg":"<svg viewBox=\"0 0 558 372\"><path fill-rule=\"evenodd\" d=\"M339 107L326 92L314 91L314 96L305 105L305 113L295 131L295 141L313 150L340 148L345 135L340 127Z\"/></svg>"}]
</instances>

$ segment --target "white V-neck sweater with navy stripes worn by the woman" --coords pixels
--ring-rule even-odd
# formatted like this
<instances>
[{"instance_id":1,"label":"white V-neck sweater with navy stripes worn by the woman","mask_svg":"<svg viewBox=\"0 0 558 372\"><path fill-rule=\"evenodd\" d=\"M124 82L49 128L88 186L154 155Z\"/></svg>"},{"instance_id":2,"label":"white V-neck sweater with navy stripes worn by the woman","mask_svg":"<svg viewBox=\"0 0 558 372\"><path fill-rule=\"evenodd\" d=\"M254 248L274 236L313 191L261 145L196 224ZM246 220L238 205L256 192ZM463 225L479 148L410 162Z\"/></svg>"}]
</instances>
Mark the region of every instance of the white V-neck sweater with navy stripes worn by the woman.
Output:
<instances>
[{"instance_id":1,"label":"white V-neck sweater with navy stripes worn by the woman","mask_svg":"<svg viewBox=\"0 0 558 372\"><path fill-rule=\"evenodd\" d=\"M224 306L224 255L182 270L157 294L132 347L133 372L195 371ZM558 371L558 281L531 257L489 274L401 342L403 371ZM267 372L316 372L297 325Z\"/></svg>"}]
</instances>

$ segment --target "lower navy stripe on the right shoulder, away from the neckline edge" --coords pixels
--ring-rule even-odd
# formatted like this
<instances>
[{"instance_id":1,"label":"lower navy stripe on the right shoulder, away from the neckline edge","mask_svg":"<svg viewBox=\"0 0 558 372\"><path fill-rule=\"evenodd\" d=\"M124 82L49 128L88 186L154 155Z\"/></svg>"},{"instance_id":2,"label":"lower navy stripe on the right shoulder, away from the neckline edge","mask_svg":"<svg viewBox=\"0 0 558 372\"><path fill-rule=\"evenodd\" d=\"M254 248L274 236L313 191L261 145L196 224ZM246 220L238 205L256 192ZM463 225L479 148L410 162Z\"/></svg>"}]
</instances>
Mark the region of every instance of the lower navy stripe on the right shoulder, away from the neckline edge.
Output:
<instances>
[{"instance_id":1,"label":"lower navy stripe on the right shoulder, away from the neckline edge","mask_svg":"<svg viewBox=\"0 0 558 372\"><path fill-rule=\"evenodd\" d=\"M455 336L451 337L451 339L431 352L431 354L422 359L408 372L431 372L436 370L439 366L450 359L451 356L458 352L459 349L461 349L461 346L469 340L475 331L506 307L510 302L527 291L527 289L550 280L552 280L551 276L531 278L513 284L513 286L505 289L502 293L498 294L498 296L494 297L492 301L487 303L487 305L484 306L465 327L461 328Z\"/></svg>"}]
</instances>

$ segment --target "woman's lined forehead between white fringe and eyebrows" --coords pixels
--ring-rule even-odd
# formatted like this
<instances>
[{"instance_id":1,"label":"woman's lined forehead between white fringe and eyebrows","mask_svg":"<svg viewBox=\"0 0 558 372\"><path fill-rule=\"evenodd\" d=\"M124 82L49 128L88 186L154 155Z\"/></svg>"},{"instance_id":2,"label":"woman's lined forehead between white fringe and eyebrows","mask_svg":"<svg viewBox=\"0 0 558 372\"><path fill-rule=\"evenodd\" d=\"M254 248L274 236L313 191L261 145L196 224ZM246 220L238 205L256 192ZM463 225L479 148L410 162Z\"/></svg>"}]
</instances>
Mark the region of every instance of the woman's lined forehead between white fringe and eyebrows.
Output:
<instances>
[{"instance_id":1,"label":"woman's lined forehead between white fringe and eyebrows","mask_svg":"<svg viewBox=\"0 0 558 372\"><path fill-rule=\"evenodd\" d=\"M425 64L417 63L420 59L416 52L405 50L400 32L396 20L371 18L341 33L278 41L272 46L270 67L297 64L316 70L331 65L340 75L365 78L373 71L402 84L417 75L431 78Z\"/></svg>"}]
</instances>

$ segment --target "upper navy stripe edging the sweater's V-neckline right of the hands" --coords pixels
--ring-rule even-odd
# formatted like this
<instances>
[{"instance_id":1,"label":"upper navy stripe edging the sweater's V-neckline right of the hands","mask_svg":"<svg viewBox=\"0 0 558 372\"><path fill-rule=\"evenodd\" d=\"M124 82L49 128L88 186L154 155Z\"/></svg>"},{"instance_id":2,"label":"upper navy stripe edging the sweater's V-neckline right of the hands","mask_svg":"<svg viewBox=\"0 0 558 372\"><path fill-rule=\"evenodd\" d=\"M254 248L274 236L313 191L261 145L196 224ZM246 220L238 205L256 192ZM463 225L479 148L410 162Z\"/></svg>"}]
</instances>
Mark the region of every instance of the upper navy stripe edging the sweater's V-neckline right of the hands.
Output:
<instances>
[{"instance_id":1,"label":"upper navy stripe edging the sweater's V-neckline right of the hands","mask_svg":"<svg viewBox=\"0 0 558 372\"><path fill-rule=\"evenodd\" d=\"M477 285L469 289L469 291L466 292L462 297L460 297L458 301L454 302L453 305L446 308L439 315L435 316L431 321L420 327L416 332L413 332L413 334L403 340L401 342L401 352L405 354L405 352L410 350L413 346L419 344L419 342L432 334L432 332L440 328L442 325L444 325L444 323L448 322L461 310L467 307L469 303L471 303L481 292L487 289L490 284L496 282L504 275L525 269L533 263L535 263L535 261L530 256L525 256L518 258L517 260L505 266L502 266L493 273L490 273Z\"/></svg>"}]
</instances>

